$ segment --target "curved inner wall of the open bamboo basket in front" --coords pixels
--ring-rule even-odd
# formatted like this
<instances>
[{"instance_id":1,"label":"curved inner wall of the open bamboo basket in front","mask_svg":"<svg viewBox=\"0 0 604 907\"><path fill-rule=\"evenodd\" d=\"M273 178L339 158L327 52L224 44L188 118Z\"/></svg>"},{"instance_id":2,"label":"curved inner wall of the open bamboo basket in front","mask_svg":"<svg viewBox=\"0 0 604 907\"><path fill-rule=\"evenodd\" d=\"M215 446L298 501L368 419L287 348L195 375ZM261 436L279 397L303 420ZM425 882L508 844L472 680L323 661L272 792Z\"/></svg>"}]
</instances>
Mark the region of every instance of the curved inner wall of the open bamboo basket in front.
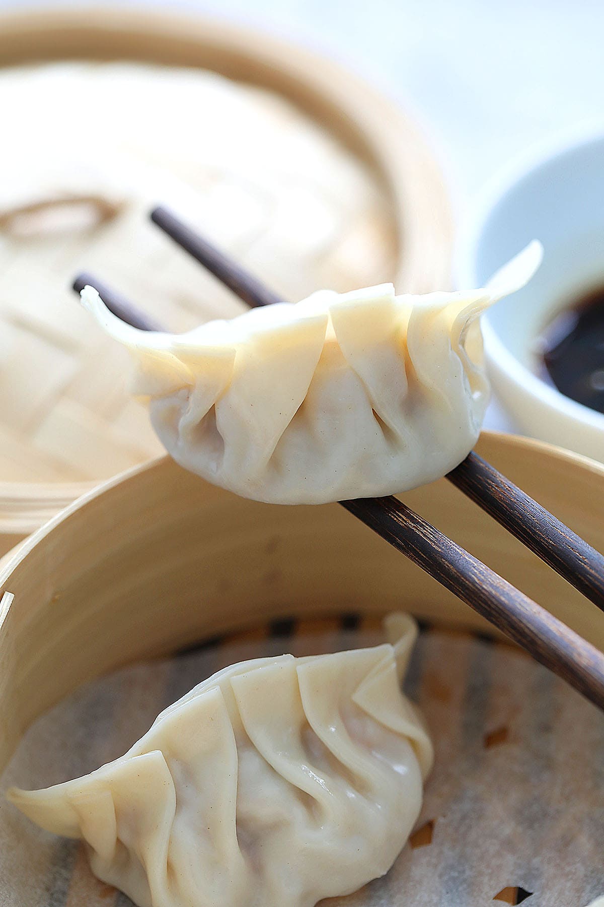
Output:
<instances>
[{"instance_id":1,"label":"curved inner wall of the open bamboo basket in front","mask_svg":"<svg viewBox=\"0 0 604 907\"><path fill-rule=\"evenodd\" d=\"M604 466L491 433L478 450L604 550ZM604 649L595 606L446 480L405 501ZM0 583L0 769L34 717L86 680L283 613L409 607L490 628L342 508L247 501L168 458L74 502L24 542Z\"/></svg>"}]
</instances>

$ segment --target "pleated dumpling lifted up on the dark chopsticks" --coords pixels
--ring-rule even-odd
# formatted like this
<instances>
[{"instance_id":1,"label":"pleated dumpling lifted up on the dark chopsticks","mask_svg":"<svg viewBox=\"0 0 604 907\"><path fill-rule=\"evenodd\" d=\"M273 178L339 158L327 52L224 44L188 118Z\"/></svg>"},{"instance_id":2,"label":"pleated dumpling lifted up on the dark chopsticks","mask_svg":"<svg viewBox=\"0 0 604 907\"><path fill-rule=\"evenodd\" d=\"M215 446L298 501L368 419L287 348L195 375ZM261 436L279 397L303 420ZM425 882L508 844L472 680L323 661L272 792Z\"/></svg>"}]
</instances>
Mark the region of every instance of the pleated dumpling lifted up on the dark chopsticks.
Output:
<instances>
[{"instance_id":1,"label":"pleated dumpling lifted up on the dark chopsticks","mask_svg":"<svg viewBox=\"0 0 604 907\"><path fill-rule=\"evenodd\" d=\"M461 463L489 398L479 317L541 256L533 242L469 293L321 290L181 335L81 296L134 355L134 391L177 463L258 501L324 503L405 492Z\"/></svg>"}]
</instances>

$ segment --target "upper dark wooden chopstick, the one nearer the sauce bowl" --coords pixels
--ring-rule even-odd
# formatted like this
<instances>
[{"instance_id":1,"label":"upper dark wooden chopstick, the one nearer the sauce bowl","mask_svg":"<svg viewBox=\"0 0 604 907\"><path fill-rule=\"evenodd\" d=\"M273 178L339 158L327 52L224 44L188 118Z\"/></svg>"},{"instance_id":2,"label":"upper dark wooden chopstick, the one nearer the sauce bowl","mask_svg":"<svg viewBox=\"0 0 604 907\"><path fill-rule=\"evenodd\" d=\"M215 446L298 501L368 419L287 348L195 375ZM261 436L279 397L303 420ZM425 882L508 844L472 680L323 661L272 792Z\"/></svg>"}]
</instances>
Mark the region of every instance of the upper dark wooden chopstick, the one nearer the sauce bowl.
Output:
<instances>
[{"instance_id":1,"label":"upper dark wooden chopstick, the one nearer the sauce bowl","mask_svg":"<svg viewBox=\"0 0 604 907\"><path fill-rule=\"evenodd\" d=\"M172 211L159 207L151 212L150 218L249 306L270 306L275 301L282 301L253 275L247 275L231 258L197 236ZM243 294L240 292L242 284L250 288ZM604 610L604 556L599 551L477 453L469 453L446 478Z\"/></svg>"}]
</instances>

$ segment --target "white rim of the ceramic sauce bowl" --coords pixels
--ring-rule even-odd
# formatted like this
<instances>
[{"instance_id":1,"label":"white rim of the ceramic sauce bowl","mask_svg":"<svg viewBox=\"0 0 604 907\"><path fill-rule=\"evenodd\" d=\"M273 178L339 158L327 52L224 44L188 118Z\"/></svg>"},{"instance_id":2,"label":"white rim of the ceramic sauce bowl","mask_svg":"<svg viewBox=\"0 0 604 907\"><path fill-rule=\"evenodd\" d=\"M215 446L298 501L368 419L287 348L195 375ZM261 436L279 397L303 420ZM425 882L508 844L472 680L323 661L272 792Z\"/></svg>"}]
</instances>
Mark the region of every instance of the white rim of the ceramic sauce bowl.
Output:
<instances>
[{"instance_id":1,"label":"white rim of the ceramic sauce bowl","mask_svg":"<svg viewBox=\"0 0 604 907\"><path fill-rule=\"evenodd\" d=\"M575 152L598 143L604 143L604 121L599 119L581 122L558 132L553 138L533 142L528 149L513 156L511 161L496 171L477 193L475 204L459 231L454 252L455 285L462 288L477 286L476 265L480 241L495 208L511 191L551 161L571 157ZM482 319L481 327L484 351L490 364L500 370L523 395L532 396L548 409L555 410L590 430L599 431L604 436L604 414L570 399L524 366L505 346L491 324L488 313Z\"/></svg>"}]
</instances>

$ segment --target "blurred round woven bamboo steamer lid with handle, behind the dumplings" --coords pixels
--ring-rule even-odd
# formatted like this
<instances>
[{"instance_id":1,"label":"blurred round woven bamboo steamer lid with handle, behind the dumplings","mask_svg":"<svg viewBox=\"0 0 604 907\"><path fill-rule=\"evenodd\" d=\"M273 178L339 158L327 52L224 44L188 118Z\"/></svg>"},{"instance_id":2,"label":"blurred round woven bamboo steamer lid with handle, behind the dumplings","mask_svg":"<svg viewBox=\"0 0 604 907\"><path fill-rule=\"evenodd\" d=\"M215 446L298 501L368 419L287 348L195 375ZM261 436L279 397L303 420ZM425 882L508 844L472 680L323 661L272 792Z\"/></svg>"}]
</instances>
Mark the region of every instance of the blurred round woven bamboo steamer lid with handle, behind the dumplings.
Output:
<instances>
[{"instance_id":1,"label":"blurred round woven bamboo steamer lid with handle, behind the dumplings","mask_svg":"<svg viewBox=\"0 0 604 907\"><path fill-rule=\"evenodd\" d=\"M87 10L5 15L0 65L4 550L160 451L74 273L175 330L241 311L147 222L156 202L286 298L448 283L446 197L415 125L329 61L223 24Z\"/></svg>"}]
</instances>

